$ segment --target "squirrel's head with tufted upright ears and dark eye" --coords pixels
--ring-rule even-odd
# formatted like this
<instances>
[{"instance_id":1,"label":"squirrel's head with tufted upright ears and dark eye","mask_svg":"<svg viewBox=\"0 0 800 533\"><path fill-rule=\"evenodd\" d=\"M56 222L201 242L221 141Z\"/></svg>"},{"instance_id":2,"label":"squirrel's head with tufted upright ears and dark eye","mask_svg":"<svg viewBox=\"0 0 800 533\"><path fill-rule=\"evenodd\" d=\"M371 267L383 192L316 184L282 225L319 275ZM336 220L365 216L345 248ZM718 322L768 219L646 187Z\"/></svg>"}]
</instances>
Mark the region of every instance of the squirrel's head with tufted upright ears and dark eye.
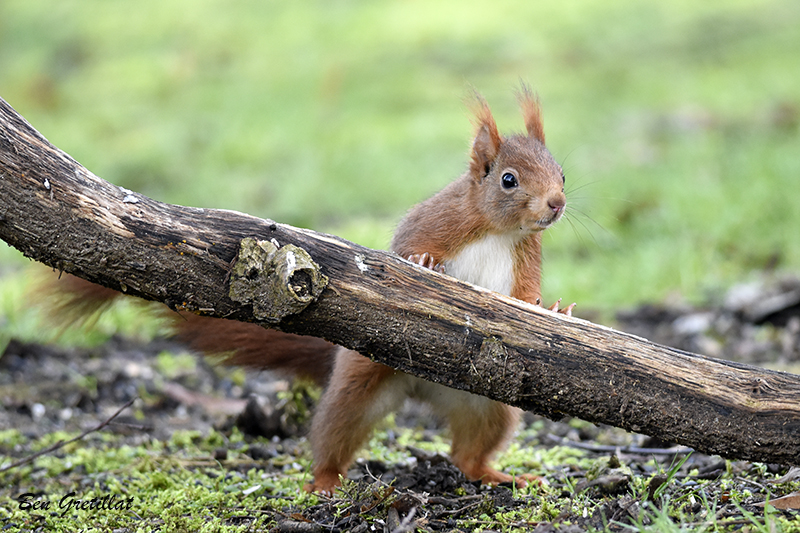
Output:
<instances>
[{"instance_id":1,"label":"squirrel's head with tufted upright ears and dark eye","mask_svg":"<svg viewBox=\"0 0 800 533\"><path fill-rule=\"evenodd\" d=\"M470 194L493 231L527 234L558 221L567 201L564 173L544 145L538 98L523 85L519 102L527 135L505 138L489 105L477 96Z\"/></svg>"}]
</instances>

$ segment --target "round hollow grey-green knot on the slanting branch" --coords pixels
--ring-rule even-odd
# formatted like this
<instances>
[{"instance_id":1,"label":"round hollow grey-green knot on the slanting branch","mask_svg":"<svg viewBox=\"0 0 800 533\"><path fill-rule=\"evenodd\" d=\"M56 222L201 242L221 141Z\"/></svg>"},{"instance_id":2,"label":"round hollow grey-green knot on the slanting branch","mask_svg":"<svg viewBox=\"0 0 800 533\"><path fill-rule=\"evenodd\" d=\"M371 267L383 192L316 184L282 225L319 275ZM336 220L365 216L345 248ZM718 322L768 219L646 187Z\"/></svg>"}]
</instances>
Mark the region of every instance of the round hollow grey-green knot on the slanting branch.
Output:
<instances>
[{"instance_id":1,"label":"round hollow grey-green knot on the slanting branch","mask_svg":"<svg viewBox=\"0 0 800 533\"><path fill-rule=\"evenodd\" d=\"M308 252L292 244L278 248L269 241L247 237L231 269L231 300L252 304L253 315L277 324L316 300L328 285Z\"/></svg>"}]
</instances>

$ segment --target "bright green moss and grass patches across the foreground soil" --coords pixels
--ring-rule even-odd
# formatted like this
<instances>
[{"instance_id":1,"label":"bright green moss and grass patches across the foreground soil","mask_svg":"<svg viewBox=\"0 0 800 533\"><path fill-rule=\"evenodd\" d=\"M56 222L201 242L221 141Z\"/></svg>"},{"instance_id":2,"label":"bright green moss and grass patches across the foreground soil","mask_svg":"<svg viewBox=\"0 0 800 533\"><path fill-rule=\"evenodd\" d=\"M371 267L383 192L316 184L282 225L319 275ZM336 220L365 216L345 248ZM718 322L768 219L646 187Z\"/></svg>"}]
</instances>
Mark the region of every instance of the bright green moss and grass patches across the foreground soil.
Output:
<instances>
[{"instance_id":1,"label":"bright green moss and grass patches across the foreground soil","mask_svg":"<svg viewBox=\"0 0 800 533\"><path fill-rule=\"evenodd\" d=\"M374 459L402 462L410 458L406 446L415 445L419 437L411 435L414 430L409 428L395 432L399 440L391 451L383 448L386 435L372 439L369 448ZM56 432L33 442L17 430L0 431L0 450L14 449L16 454L24 450L27 455L71 436ZM268 460L254 462L250 458L251 448L269 446L267 440L243 437L236 430L228 435L214 430L206 434L178 430L168 441L144 438L136 446L110 432L92 433L57 452L0 473L0 523L12 530L16 527L31 531L43 527L46 531L128 528L234 532L267 531L287 518L325 521L327 514L320 514L318 507L315 511L314 506L328 499L302 490L308 481L307 453L294 455L290 450L300 449L295 443ZM215 458L219 449L226 450L224 459ZM512 461L524 463L531 453L512 448L508 455ZM580 517L607 513L607 509L603 511L605 506L621 496L633 514L621 516L621 521L606 522L606 527L598 531L800 531L795 518L769 506L763 515L747 510L744 502L751 500L752 494L742 488L747 484L741 484L741 473L729 472L719 480L703 480L695 479L694 471L689 478L673 480L680 467L676 463L661 486L665 489L663 494L657 491L650 497L648 485L652 476L633 474L625 465L620 468L616 457L586 455L561 446L542 452L538 467L545 467L541 473L547 476L548 484L514 489L511 495L519 499L516 502L492 503L491 498L485 499L479 507L472 505L469 511L454 516L455 521L448 527L466 531L531 531L542 521L566 527ZM572 471L569 464L575 465L576 470ZM530 464L526 466L530 468ZM583 481L582 472L586 470L597 474L626 472L627 488L622 494L580 489L577 483ZM330 502L341 513L338 518L359 515L369 526L382 527L388 507L408 491L397 488L393 492L379 485L372 480L346 482ZM796 485L776 485L770 490L791 492ZM463 491L463 487L458 490ZM19 496L26 493L31 495L28 503L36 502L39 508L20 504ZM88 502L95 498L118 505L130 500L130 507L94 509L74 505L75 500ZM373 504L366 505L365 501ZM47 508L42 508L44 505ZM730 514L731 505L738 510L735 515ZM424 514L432 506L433 503L423 503L419 512ZM726 511L718 514L723 507ZM305 518L298 518L301 516ZM741 529L743 525L746 529ZM423 520L421 530L432 529L425 529Z\"/></svg>"}]
</instances>

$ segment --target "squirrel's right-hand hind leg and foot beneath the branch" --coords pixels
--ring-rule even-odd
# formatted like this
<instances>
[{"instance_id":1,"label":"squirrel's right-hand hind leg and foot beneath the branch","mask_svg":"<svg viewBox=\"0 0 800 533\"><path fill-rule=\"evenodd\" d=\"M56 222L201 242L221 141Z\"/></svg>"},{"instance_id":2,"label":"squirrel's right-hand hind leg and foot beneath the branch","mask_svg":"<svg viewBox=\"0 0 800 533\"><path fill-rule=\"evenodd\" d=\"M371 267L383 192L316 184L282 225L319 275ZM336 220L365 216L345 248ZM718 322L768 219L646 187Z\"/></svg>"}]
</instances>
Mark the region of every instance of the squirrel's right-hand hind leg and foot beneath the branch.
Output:
<instances>
[{"instance_id":1,"label":"squirrel's right-hand hind leg and foot beneath the branch","mask_svg":"<svg viewBox=\"0 0 800 533\"><path fill-rule=\"evenodd\" d=\"M463 402L447 413L453 434L450 453L453 464L470 480L490 485L514 482L524 487L528 481L538 480L530 474L511 476L489 466L495 452L516 429L520 410L487 398L480 398L479 402L481 405Z\"/></svg>"}]
</instances>

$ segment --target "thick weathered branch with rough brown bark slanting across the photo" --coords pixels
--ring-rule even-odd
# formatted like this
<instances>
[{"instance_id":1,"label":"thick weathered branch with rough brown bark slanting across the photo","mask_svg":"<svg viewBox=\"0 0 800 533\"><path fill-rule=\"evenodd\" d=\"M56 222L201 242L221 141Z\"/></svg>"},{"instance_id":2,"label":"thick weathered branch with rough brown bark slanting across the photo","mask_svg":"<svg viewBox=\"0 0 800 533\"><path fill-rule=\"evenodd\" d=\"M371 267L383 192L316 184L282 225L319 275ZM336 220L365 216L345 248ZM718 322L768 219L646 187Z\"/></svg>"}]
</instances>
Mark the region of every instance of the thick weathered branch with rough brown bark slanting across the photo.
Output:
<instances>
[{"instance_id":1,"label":"thick weathered branch with rough brown bark slanting across the photo","mask_svg":"<svg viewBox=\"0 0 800 533\"><path fill-rule=\"evenodd\" d=\"M93 175L2 99L0 238L173 309L323 337L551 418L800 464L800 376L659 346L331 235L154 201Z\"/></svg>"}]
</instances>

